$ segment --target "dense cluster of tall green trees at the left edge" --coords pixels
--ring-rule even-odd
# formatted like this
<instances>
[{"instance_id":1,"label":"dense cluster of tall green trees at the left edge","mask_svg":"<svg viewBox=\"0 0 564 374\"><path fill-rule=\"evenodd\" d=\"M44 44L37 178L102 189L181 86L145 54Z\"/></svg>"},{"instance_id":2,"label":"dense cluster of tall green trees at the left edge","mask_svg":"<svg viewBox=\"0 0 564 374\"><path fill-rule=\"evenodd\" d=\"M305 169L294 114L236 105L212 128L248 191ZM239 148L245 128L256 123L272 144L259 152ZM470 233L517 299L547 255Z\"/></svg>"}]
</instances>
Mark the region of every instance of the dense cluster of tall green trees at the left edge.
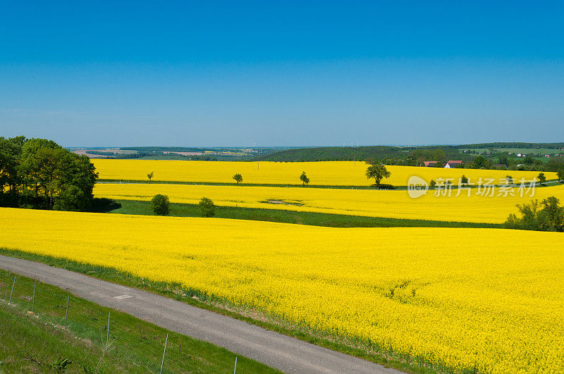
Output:
<instances>
[{"instance_id":1,"label":"dense cluster of tall green trees at the left edge","mask_svg":"<svg viewBox=\"0 0 564 374\"><path fill-rule=\"evenodd\" d=\"M0 137L0 206L87 211L98 173L49 139Z\"/></svg>"}]
</instances>

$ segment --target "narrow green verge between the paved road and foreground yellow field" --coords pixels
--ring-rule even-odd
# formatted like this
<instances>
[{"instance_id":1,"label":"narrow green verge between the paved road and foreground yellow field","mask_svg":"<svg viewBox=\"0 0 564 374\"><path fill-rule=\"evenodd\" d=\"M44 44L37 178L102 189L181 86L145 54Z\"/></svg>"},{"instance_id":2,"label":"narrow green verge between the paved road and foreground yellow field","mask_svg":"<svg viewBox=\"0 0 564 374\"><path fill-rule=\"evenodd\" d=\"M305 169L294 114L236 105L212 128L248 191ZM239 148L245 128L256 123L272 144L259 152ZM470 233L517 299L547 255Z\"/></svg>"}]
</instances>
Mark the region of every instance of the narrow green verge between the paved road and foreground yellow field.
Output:
<instances>
[{"instance_id":1,"label":"narrow green verge between the paved road and foreground yellow field","mask_svg":"<svg viewBox=\"0 0 564 374\"><path fill-rule=\"evenodd\" d=\"M143 280L140 277L137 277L130 273L116 270L115 268L111 268L111 267L92 266L87 263L80 263L78 261L72 261L66 258L55 258L52 256L31 254L17 249L0 248L0 254L5 256L16 257L16 258L23 258L30 261L46 263L49 266L65 268L67 270L75 271L77 273L87 274L94 278L99 278L109 282L114 282L120 285L135 287L138 289L145 287L146 291L153 292L154 294L160 294L162 296L169 297L171 299L183 301L186 304L190 304L192 306L197 306L199 308L204 308L209 311L214 311L215 313L220 313L224 316L230 316L238 320L243 320L247 323L250 323L252 325L257 325L261 328L266 328L268 330L272 330L274 332L278 332L283 335L295 337L296 339L300 339L305 342L317 344L320 347L332 349L333 351L340 351L344 354L356 356L360 359L365 359L367 361L379 363L380 365L385 367L396 368L406 373L436 373L436 370L427 367L426 363L415 362L412 361L410 358L396 357L393 356L393 354L381 354L379 352L367 351L365 349L351 347L349 344L337 342L336 340L333 339L325 339L303 332L301 330L288 328L287 325L278 325L274 323L265 322L262 320L255 320L247 316L243 316L239 313L228 311L224 308L219 308L217 306L209 304L209 302L206 302L208 301L207 295L201 294L196 290L183 289L183 287L178 284L153 282L147 279ZM174 292L176 289L179 288L183 289L182 293ZM193 296L197 296L198 299L192 298Z\"/></svg>"}]
</instances>

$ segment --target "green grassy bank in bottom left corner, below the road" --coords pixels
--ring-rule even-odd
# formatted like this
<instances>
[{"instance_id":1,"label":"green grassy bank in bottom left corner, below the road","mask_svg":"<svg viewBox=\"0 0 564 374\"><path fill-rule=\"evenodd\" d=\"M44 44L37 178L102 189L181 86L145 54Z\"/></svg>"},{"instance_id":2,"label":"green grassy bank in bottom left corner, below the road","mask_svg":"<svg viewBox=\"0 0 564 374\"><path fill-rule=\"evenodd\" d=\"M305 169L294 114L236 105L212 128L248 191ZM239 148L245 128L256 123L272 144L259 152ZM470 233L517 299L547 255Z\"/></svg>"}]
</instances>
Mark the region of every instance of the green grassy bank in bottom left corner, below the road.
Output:
<instances>
[{"instance_id":1,"label":"green grassy bank in bottom left corner, below the road","mask_svg":"<svg viewBox=\"0 0 564 374\"><path fill-rule=\"evenodd\" d=\"M231 351L0 270L0 372L158 373L167 333L164 372L233 373ZM237 365L278 373L240 356Z\"/></svg>"}]
</instances>

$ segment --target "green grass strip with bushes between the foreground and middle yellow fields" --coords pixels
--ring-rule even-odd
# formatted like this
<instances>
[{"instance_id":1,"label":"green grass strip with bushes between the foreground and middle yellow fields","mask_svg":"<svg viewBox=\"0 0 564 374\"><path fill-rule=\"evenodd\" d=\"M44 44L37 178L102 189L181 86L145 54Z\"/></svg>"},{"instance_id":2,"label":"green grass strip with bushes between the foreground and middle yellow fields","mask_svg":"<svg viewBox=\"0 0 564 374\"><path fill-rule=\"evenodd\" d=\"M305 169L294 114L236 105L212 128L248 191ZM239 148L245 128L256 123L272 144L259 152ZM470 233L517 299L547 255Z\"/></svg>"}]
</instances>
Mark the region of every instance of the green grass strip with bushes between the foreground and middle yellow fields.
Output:
<instances>
[{"instance_id":1,"label":"green grass strip with bushes between the foreground and middle yellow fields","mask_svg":"<svg viewBox=\"0 0 564 374\"><path fill-rule=\"evenodd\" d=\"M99 204L95 211L121 214L154 215L149 201L116 200ZM200 207L195 204L171 204L170 216L200 217ZM378 218L363 216L345 216L329 213L285 211L281 209L240 208L218 206L216 218L235 220L263 220L268 222L295 223L300 225L326 227L479 227L503 228L496 223L446 222L439 220L407 220L398 218Z\"/></svg>"}]
</instances>

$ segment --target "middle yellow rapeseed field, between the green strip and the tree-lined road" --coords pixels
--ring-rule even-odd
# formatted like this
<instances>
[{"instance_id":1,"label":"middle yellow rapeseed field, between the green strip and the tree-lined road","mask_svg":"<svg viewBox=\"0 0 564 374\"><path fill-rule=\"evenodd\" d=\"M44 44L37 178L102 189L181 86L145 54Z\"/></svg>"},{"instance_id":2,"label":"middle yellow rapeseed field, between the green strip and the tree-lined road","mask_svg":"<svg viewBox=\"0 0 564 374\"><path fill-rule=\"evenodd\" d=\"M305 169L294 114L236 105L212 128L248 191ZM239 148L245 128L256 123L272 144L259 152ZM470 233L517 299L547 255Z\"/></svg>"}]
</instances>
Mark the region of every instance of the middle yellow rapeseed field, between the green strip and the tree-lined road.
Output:
<instances>
[{"instance_id":1,"label":"middle yellow rapeseed field, between the green strip and the tree-lined road","mask_svg":"<svg viewBox=\"0 0 564 374\"><path fill-rule=\"evenodd\" d=\"M369 189L329 189L313 187L246 187L210 185L166 185L166 184L101 184L94 187L94 196L109 199L150 200L155 194L168 195L171 202L197 204L202 197L209 197L219 206L240 206L246 208L274 208L290 211L335 213L353 216L385 218L409 218L419 220L446 220L473 223L503 223L510 213L516 213L515 204L529 202L529 194L520 197L519 189L513 189L515 196L504 197L501 189L494 190L494 196L477 195L478 189L461 191L451 196L435 197L435 192L412 199L406 190L376 191ZM498 194L502 193L500 196ZM534 197L543 199L556 196L564 201L564 185L542 187L534 190ZM297 205L272 204L289 202Z\"/></svg>"}]
</instances>

